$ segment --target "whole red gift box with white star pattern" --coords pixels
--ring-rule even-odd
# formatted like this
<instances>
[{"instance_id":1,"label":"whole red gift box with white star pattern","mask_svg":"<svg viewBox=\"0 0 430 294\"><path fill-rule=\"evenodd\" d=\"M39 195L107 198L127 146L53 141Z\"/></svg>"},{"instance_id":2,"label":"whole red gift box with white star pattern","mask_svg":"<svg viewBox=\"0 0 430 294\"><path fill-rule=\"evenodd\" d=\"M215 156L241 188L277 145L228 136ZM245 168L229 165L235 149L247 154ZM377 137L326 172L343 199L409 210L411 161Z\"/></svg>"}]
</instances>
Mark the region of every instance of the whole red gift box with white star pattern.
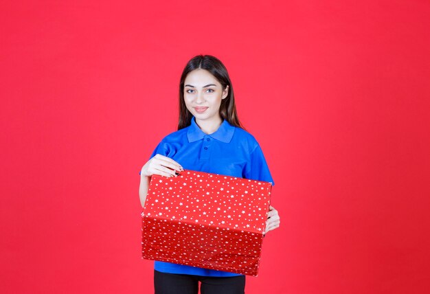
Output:
<instances>
[{"instance_id":1,"label":"whole red gift box with white star pattern","mask_svg":"<svg viewBox=\"0 0 430 294\"><path fill-rule=\"evenodd\" d=\"M152 175L142 258L258 275L272 185L185 170Z\"/></svg>"}]
</instances>

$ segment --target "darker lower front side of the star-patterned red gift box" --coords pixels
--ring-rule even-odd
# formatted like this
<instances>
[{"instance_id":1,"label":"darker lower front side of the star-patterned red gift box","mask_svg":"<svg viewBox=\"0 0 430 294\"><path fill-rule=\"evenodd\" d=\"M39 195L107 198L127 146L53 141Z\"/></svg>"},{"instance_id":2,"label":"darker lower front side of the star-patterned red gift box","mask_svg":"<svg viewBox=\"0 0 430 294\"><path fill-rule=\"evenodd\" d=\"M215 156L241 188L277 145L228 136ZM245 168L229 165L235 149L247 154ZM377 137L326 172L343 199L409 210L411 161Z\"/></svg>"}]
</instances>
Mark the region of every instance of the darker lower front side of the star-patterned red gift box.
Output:
<instances>
[{"instance_id":1,"label":"darker lower front side of the star-patterned red gift box","mask_svg":"<svg viewBox=\"0 0 430 294\"><path fill-rule=\"evenodd\" d=\"M205 269L257 275L262 234L163 218L142 220L142 257Z\"/></svg>"}]
</instances>

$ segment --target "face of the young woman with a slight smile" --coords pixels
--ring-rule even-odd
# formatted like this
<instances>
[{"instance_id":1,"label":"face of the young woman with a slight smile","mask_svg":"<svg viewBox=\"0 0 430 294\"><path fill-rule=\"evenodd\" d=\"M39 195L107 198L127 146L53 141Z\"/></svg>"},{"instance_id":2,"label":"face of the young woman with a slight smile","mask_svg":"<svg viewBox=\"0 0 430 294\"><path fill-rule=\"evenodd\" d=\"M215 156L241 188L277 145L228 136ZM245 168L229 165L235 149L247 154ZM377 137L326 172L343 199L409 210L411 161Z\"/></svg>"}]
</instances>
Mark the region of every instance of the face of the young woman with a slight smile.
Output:
<instances>
[{"instance_id":1,"label":"face of the young woman with a slight smile","mask_svg":"<svg viewBox=\"0 0 430 294\"><path fill-rule=\"evenodd\" d=\"M205 69L194 69L185 78L185 106L196 120L219 123L221 100L225 99L228 93L229 87L223 90L220 82Z\"/></svg>"}]
</instances>

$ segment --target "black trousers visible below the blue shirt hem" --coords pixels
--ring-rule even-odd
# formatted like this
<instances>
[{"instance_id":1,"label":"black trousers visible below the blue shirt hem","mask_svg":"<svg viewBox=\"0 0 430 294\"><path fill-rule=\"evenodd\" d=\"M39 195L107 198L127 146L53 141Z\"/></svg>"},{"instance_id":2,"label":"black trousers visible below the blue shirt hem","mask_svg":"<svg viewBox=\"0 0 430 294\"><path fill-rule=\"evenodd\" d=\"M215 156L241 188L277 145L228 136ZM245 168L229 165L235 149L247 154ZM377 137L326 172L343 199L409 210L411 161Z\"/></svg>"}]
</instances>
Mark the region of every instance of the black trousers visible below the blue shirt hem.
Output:
<instances>
[{"instance_id":1,"label":"black trousers visible below the blue shirt hem","mask_svg":"<svg viewBox=\"0 0 430 294\"><path fill-rule=\"evenodd\" d=\"M234 277L205 277L154 270L155 294L244 294L245 275Z\"/></svg>"}]
</instances>

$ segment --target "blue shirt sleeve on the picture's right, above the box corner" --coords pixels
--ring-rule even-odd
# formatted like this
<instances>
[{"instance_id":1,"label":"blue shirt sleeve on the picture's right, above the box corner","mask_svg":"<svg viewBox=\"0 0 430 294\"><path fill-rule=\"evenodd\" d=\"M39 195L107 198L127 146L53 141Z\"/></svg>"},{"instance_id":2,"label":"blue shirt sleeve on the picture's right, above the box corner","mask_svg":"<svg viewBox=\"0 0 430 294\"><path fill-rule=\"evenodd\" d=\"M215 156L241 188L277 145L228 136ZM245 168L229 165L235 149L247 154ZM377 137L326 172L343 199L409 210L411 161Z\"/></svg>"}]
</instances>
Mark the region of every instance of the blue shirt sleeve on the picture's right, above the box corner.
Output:
<instances>
[{"instance_id":1,"label":"blue shirt sleeve on the picture's right, above the box corner","mask_svg":"<svg viewBox=\"0 0 430 294\"><path fill-rule=\"evenodd\" d=\"M249 162L247 162L245 166L243 176L245 179L267 181L272 183L272 185L275 185L260 145L257 145L251 152Z\"/></svg>"}]
</instances>

